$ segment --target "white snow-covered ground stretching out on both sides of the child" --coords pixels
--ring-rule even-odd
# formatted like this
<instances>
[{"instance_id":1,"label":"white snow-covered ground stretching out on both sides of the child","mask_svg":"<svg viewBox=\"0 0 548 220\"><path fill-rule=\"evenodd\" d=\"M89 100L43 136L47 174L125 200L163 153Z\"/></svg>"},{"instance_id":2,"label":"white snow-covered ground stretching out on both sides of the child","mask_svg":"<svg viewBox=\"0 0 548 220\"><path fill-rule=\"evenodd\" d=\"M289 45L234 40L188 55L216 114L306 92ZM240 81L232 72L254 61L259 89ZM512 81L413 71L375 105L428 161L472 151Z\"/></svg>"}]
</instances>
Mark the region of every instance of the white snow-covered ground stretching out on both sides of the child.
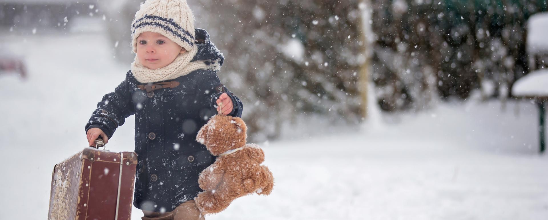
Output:
<instances>
[{"instance_id":1,"label":"white snow-covered ground stretching out on both sides of the child","mask_svg":"<svg viewBox=\"0 0 548 220\"><path fill-rule=\"evenodd\" d=\"M0 75L0 219L44 219L54 164L87 146L85 122L129 64L116 64L98 33L0 42L28 68L27 80ZM273 193L239 198L208 219L546 219L548 157L538 154L535 104L502 106L439 103L374 114L352 132L310 128L294 131L302 139L259 143ZM132 151L133 126L130 117L108 149Z\"/></svg>"}]
</instances>

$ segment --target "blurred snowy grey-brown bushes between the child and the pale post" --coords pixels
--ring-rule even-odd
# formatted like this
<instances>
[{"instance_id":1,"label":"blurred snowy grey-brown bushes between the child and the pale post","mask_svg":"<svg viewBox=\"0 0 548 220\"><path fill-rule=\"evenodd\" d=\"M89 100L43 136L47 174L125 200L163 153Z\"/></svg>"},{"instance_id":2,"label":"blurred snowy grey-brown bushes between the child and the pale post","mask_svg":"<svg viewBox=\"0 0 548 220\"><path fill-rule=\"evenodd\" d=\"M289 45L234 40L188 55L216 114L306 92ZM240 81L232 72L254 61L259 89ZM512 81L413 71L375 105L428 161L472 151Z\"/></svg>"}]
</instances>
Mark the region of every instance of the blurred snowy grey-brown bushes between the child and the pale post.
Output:
<instances>
[{"instance_id":1,"label":"blurred snowy grey-brown bushes between the child and the pale post","mask_svg":"<svg viewBox=\"0 0 548 220\"><path fill-rule=\"evenodd\" d=\"M226 57L219 77L243 100L254 140L277 138L302 114L361 121L357 0L203 0L195 8Z\"/></svg>"}]
</instances>

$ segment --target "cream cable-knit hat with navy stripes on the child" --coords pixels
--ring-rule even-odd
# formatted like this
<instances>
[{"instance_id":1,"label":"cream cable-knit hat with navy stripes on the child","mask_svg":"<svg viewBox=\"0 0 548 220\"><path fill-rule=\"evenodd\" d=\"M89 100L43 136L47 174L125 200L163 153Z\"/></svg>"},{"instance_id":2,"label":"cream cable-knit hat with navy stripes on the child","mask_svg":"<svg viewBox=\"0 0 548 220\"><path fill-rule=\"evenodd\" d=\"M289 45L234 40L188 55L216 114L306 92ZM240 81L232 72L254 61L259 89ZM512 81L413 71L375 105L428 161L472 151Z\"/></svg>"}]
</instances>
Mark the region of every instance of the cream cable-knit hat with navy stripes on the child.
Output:
<instances>
[{"instance_id":1,"label":"cream cable-knit hat with navy stripes on the child","mask_svg":"<svg viewBox=\"0 0 548 220\"><path fill-rule=\"evenodd\" d=\"M132 23L133 52L137 37L143 32L156 32L187 51L195 49L194 15L186 0L147 0L135 13Z\"/></svg>"}]
</instances>

